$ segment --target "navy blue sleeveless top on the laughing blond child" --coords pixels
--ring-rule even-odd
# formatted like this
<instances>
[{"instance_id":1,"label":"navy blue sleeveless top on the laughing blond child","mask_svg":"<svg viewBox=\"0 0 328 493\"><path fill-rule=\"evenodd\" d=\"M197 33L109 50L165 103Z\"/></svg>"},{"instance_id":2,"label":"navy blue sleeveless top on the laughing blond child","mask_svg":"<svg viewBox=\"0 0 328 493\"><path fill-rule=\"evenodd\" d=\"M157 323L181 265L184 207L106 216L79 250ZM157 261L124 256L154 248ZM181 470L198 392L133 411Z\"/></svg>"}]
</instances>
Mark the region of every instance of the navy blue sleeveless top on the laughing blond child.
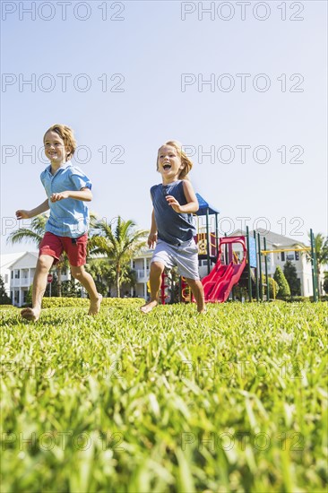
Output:
<instances>
[{"instance_id":1,"label":"navy blue sleeveless top on the laughing blond child","mask_svg":"<svg viewBox=\"0 0 328 493\"><path fill-rule=\"evenodd\" d=\"M168 185L151 186L151 199L155 212L158 238L171 245L180 245L184 241L192 239L196 234L193 214L175 212L168 205L166 195L172 195L180 205L186 205L183 181L177 180Z\"/></svg>"}]
</instances>

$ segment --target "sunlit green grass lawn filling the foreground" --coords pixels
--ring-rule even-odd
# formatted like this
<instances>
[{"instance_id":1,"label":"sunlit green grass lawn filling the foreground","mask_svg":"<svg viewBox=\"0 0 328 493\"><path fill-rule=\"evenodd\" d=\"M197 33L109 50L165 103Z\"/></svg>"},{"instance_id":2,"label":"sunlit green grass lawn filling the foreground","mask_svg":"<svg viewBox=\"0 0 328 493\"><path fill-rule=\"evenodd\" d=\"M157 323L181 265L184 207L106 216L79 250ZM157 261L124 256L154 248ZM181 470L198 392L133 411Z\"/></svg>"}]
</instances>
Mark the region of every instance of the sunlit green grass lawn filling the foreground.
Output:
<instances>
[{"instance_id":1,"label":"sunlit green grass lawn filling the foreground","mask_svg":"<svg viewBox=\"0 0 328 493\"><path fill-rule=\"evenodd\" d=\"M17 309L2 321L2 488L327 490L327 304Z\"/></svg>"}]
</instances>

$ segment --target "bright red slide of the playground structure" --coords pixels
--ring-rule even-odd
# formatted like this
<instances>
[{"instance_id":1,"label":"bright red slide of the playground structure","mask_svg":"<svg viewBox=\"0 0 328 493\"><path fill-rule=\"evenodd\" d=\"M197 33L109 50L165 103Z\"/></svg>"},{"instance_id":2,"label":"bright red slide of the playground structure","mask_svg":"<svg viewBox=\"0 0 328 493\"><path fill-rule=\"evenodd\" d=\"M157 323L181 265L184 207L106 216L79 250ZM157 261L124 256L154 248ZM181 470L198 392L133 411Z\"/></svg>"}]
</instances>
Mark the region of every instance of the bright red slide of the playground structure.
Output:
<instances>
[{"instance_id":1,"label":"bright red slide of the playground structure","mask_svg":"<svg viewBox=\"0 0 328 493\"><path fill-rule=\"evenodd\" d=\"M232 257L232 244L240 243L243 247L243 259L240 264L234 264L234 260L228 265L221 264L222 247L229 246L229 256ZM237 284L246 265L245 237L220 238L220 248L217 263L211 272L202 279L205 301L209 303L223 303L229 298L232 286Z\"/></svg>"}]
</instances>

